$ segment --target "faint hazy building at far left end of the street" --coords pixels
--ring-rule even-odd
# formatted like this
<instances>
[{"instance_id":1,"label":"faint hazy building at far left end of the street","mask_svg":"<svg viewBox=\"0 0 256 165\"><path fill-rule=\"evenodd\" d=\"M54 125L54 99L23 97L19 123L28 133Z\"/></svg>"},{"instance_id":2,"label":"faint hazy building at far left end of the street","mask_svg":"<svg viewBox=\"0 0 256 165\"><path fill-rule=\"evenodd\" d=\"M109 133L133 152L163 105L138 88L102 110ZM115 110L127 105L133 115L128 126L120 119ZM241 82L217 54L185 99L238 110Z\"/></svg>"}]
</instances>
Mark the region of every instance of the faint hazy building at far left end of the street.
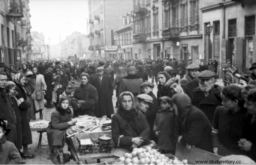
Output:
<instances>
[{"instance_id":1,"label":"faint hazy building at far left end of the street","mask_svg":"<svg viewBox=\"0 0 256 165\"><path fill-rule=\"evenodd\" d=\"M39 32L31 32L32 52L31 59L48 59L48 49L44 42L44 34Z\"/></svg>"}]
</instances>

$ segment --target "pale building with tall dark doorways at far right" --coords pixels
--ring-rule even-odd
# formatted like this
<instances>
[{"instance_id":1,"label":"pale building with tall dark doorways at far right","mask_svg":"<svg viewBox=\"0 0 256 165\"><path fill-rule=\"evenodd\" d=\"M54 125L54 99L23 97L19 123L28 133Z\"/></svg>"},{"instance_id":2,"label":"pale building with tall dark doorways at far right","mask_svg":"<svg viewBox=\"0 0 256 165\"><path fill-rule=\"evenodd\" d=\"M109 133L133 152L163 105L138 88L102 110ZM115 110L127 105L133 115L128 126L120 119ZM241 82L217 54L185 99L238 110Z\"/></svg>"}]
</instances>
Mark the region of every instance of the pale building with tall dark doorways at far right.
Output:
<instances>
[{"instance_id":1,"label":"pale building with tall dark doorways at far right","mask_svg":"<svg viewBox=\"0 0 256 165\"><path fill-rule=\"evenodd\" d=\"M207 0L202 1L200 10L204 25L210 23L213 26L210 40L205 26L203 30L206 58L219 59L220 73L227 59L239 71L248 72L256 62L256 1Z\"/></svg>"}]
</instances>

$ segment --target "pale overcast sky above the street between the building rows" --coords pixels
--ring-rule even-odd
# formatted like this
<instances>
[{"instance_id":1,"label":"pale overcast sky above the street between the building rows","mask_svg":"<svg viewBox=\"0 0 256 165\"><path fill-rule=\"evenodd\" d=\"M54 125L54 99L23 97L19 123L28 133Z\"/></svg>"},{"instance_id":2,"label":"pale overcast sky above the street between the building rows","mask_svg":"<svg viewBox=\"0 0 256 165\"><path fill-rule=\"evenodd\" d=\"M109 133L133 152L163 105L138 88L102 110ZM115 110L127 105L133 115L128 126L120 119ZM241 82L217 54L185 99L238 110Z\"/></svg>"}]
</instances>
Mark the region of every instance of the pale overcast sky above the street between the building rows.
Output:
<instances>
[{"instance_id":1,"label":"pale overcast sky above the street between the building rows","mask_svg":"<svg viewBox=\"0 0 256 165\"><path fill-rule=\"evenodd\" d=\"M58 44L73 32L87 34L87 0L29 0L31 31L44 34L45 43Z\"/></svg>"}]
</instances>

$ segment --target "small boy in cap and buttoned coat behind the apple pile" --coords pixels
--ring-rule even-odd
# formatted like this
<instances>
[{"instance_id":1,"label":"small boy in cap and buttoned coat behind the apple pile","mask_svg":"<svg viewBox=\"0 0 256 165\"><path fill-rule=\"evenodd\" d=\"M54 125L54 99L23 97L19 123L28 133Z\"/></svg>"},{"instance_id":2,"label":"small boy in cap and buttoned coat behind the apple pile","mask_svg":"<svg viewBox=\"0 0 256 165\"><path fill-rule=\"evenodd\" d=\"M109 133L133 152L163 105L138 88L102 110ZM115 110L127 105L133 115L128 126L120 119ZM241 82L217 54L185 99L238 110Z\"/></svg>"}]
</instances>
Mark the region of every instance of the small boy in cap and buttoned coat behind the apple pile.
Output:
<instances>
[{"instance_id":1,"label":"small boy in cap and buttoned coat behind the apple pile","mask_svg":"<svg viewBox=\"0 0 256 165\"><path fill-rule=\"evenodd\" d=\"M175 155L175 113L172 110L172 99L168 96L159 98L161 109L157 112L153 132L158 137L161 153Z\"/></svg>"}]
</instances>

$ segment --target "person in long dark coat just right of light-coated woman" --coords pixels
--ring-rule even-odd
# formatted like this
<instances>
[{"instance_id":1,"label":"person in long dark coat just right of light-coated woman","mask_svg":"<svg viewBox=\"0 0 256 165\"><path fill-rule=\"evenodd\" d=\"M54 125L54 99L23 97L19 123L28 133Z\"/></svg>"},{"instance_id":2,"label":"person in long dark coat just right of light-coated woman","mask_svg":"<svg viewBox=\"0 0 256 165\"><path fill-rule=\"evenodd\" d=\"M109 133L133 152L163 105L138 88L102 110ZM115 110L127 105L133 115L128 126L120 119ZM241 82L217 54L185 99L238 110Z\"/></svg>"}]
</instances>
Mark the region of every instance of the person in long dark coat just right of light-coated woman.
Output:
<instances>
[{"instance_id":1,"label":"person in long dark coat just right of light-coated woman","mask_svg":"<svg viewBox=\"0 0 256 165\"><path fill-rule=\"evenodd\" d=\"M52 75L53 69L49 67L47 69L47 72L44 74L44 80L47 86L46 90L46 101L47 101L47 108L53 108L54 106L51 106L51 101L52 101L52 90L53 90L53 75Z\"/></svg>"}]
</instances>

